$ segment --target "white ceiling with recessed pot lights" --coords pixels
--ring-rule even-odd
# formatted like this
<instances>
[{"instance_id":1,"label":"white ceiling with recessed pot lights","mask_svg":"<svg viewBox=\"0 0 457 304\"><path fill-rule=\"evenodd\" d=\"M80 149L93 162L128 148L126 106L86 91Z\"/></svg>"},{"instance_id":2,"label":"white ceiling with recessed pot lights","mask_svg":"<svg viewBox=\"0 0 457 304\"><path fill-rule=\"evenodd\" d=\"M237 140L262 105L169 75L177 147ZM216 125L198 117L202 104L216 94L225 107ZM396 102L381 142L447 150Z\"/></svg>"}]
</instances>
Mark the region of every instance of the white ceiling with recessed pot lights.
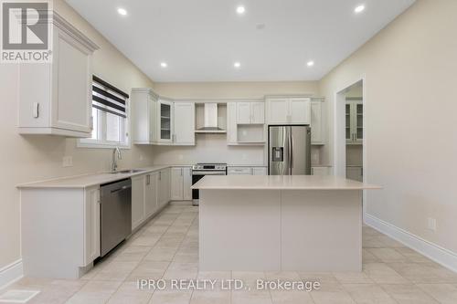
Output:
<instances>
[{"instance_id":1,"label":"white ceiling with recessed pot lights","mask_svg":"<svg viewBox=\"0 0 457 304\"><path fill-rule=\"evenodd\" d=\"M414 2L66 1L154 81L321 79ZM356 15L360 4L366 10ZM238 5L246 7L243 16ZM120 16L119 7L128 15ZM306 66L309 60L314 67ZM160 67L163 61L167 68Z\"/></svg>"}]
</instances>

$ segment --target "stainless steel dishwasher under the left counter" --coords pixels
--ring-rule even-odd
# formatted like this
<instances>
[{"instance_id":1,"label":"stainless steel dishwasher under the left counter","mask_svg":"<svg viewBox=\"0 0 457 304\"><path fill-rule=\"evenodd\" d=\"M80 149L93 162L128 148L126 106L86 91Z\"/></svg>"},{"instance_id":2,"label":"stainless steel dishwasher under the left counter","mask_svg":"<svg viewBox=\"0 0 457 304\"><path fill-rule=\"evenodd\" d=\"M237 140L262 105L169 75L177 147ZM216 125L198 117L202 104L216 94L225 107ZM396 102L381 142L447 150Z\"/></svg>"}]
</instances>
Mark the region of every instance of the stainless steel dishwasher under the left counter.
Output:
<instances>
[{"instance_id":1,"label":"stainless steel dishwasher under the left counter","mask_svg":"<svg viewBox=\"0 0 457 304\"><path fill-rule=\"evenodd\" d=\"M101 194L101 257L132 233L132 181L105 183Z\"/></svg>"}]
</instances>

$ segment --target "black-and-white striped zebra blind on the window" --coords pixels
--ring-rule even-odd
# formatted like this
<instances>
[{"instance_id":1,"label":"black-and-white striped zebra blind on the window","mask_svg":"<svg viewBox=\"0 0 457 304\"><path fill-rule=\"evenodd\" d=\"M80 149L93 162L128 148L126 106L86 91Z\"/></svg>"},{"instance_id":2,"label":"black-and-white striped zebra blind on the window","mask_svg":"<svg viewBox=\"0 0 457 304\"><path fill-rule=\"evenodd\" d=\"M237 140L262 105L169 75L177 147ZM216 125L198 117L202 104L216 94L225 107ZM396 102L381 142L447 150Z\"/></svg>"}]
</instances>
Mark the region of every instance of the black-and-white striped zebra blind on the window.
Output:
<instances>
[{"instance_id":1,"label":"black-and-white striped zebra blind on the window","mask_svg":"<svg viewBox=\"0 0 457 304\"><path fill-rule=\"evenodd\" d=\"M126 101L129 95L108 82L92 77L92 107L126 118Z\"/></svg>"}]
</instances>

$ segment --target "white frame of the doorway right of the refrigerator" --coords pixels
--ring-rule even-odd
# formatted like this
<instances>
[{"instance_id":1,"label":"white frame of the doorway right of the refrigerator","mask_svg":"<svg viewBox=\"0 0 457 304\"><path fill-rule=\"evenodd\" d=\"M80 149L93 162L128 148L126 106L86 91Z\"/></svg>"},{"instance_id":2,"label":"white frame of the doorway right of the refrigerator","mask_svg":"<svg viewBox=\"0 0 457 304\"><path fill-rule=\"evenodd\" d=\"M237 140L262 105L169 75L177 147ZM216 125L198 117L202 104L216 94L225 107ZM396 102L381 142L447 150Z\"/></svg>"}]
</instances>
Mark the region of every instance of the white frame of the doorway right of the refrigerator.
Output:
<instances>
[{"instance_id":1,"label":"white frame of the doorway right of the refrigerator","mask_svg":"<svg viewBox=\"0 0 457 304\"><path fill-rule=\"evenodd\" d=\"M362 81L362 104L363 104L363 128L364 138L362 140L362 166L363 166L363 182L367 183L367 78L363 74L355 79L347 81L345 85L335 90L334 94L334 175L345 177L345 92L347 89ZM364 213L367 204L367 191L363 191Z\"/></svg>"}]
</instances>

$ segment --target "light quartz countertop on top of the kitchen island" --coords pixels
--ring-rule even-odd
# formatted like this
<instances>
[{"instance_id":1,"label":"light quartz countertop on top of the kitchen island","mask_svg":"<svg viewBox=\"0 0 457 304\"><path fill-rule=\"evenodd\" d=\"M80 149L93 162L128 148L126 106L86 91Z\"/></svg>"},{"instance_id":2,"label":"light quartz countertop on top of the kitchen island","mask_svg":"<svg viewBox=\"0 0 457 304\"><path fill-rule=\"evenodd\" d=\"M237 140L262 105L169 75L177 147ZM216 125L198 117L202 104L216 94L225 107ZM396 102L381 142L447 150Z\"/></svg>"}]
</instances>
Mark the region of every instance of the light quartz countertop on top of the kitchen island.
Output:
<instances>
[{"instance_id":1,"label":"light quartz countertop on top of the kitchen island","mask_svg":"<svg viewBox=\"0 0 457 304\"><path fill-rule=\"evenodd\" d=\"M317 175L211 175L205 176L192 189L245 190L363 190L380 186L359 183L336 176Z\"/></svg>"}]
</instances>

